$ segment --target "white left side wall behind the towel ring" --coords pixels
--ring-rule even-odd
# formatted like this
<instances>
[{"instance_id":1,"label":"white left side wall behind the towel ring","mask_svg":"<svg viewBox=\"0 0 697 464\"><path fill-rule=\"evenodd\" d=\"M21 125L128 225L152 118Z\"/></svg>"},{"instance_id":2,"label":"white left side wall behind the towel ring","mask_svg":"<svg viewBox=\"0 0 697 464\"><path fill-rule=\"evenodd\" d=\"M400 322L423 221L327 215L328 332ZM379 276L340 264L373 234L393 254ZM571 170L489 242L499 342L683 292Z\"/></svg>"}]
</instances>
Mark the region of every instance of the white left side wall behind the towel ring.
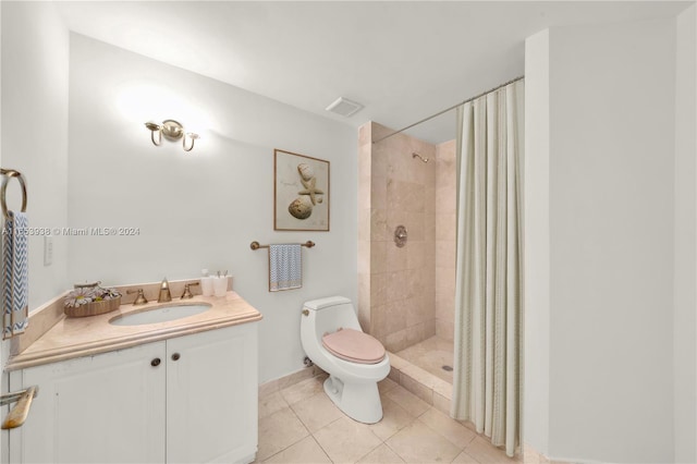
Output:
<instances>
[{"instance_id":1,"label":"white left side wall behind the towel ring","mask_svg":"<svg viewBox=\"0 0 697 464\"><path fill-rule=\"evenodd\" d=\"M24 173L33 228L66 222L69 33L50 2L2 2L2 167ZM8 187L19 209L19 183ZM44 266L44 239L29 236L29 309L68 285L66 241L56 237Z\"/></svg>"}]
</instances>

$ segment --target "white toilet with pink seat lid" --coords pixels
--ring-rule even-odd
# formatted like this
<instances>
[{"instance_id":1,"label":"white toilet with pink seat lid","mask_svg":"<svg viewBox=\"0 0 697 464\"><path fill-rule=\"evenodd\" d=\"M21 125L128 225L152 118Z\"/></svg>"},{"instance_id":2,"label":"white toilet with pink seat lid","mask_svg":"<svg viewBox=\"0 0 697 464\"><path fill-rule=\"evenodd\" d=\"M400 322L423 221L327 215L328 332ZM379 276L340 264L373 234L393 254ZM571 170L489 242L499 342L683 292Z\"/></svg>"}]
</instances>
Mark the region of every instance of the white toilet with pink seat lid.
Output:
<instances>
[{"instance_id":1,"label":"white toilet with pink seat lid","mask_svg":"<svg viewBox=\"0 0 697 464\"><path fill-rule=\"evenodd\" d=\"M306 302L301 342L313 363L329 374L325 392L344 414L365 424L382 418L378 381L390 374L390 358L382 343L363 332L351 300Z\"/></svg>"}]
</instances>

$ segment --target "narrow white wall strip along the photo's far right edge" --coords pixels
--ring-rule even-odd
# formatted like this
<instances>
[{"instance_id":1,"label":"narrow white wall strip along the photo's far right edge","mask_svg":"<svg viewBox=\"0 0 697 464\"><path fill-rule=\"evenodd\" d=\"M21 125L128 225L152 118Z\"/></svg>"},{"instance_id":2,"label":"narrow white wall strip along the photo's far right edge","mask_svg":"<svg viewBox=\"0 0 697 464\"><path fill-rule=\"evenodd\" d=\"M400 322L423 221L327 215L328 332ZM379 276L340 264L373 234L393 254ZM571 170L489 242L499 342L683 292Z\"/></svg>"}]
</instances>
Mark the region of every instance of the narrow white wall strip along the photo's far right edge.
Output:
<instances>
[{"instance_id":1,"label":"narrow white wall strip along the photo's far right edge","mask_svg":"<svg viewBox=\"0 0 697 464\"><path fill-rule=\"evenodd\" d=\"M697 209L697 73L695 71L697 35L695 19L697 8L684 11L676 22L676 73L675 73L675 309L674 309L674 434L675 461L697 461L697 426L695 408L697 384L695 363L697 345L695 309L697 295L695 284L697 253L695 241L695 215Z\"/></svg>"}]
</instances>

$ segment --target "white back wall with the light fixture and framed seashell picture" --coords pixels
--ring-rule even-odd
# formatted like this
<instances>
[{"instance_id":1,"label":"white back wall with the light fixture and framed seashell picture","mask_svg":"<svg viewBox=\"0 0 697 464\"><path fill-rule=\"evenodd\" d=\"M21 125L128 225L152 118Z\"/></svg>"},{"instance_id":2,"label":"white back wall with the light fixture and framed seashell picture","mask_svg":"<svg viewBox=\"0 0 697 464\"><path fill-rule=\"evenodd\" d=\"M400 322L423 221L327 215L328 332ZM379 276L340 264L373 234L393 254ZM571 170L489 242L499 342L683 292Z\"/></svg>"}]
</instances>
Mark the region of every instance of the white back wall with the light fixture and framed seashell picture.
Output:
<instances>
[{"instance_id":1,"label":"white back wall with the light fixture and framed seashell picture","mask_svg":"<svg viewBox=\"0 0 697 464\"><path fill-rule=\"evenodd\" d=\"M221 82L71 35L71 227L134 227L137 236L73 236L71 280L106 284L196 278L229 270L264 314L260 381L303 367L304 301L357 298L357 134ZM283 78L283 76L278 76ZM155 147L145 121L199 131L191 152ZM273 231L273 148L331 162L331 231ZM260 243L305 242L304 286L268 292Z\"/></svg>"}]
</instances>

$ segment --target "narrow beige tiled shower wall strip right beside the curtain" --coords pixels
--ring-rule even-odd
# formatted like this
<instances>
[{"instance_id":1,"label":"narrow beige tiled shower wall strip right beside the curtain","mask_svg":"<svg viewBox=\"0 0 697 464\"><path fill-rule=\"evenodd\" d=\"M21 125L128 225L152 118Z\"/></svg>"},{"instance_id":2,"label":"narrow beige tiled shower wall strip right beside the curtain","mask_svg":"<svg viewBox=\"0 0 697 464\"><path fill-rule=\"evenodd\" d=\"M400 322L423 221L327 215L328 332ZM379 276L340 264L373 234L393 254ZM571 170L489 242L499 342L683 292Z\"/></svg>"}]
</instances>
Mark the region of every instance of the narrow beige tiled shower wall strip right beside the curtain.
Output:
<instances>
[{"instance_id":1,"label":"narrow beige tiled shower wall strip right beside the curtain","mask_svg":"<svg viewBox=\"0 0 697 464\"><path fill-rule=\"evenodd\" d=\"M453 340L455 300L455 141L436 147L436 334Z\"/></svg>"}]
</instances>

